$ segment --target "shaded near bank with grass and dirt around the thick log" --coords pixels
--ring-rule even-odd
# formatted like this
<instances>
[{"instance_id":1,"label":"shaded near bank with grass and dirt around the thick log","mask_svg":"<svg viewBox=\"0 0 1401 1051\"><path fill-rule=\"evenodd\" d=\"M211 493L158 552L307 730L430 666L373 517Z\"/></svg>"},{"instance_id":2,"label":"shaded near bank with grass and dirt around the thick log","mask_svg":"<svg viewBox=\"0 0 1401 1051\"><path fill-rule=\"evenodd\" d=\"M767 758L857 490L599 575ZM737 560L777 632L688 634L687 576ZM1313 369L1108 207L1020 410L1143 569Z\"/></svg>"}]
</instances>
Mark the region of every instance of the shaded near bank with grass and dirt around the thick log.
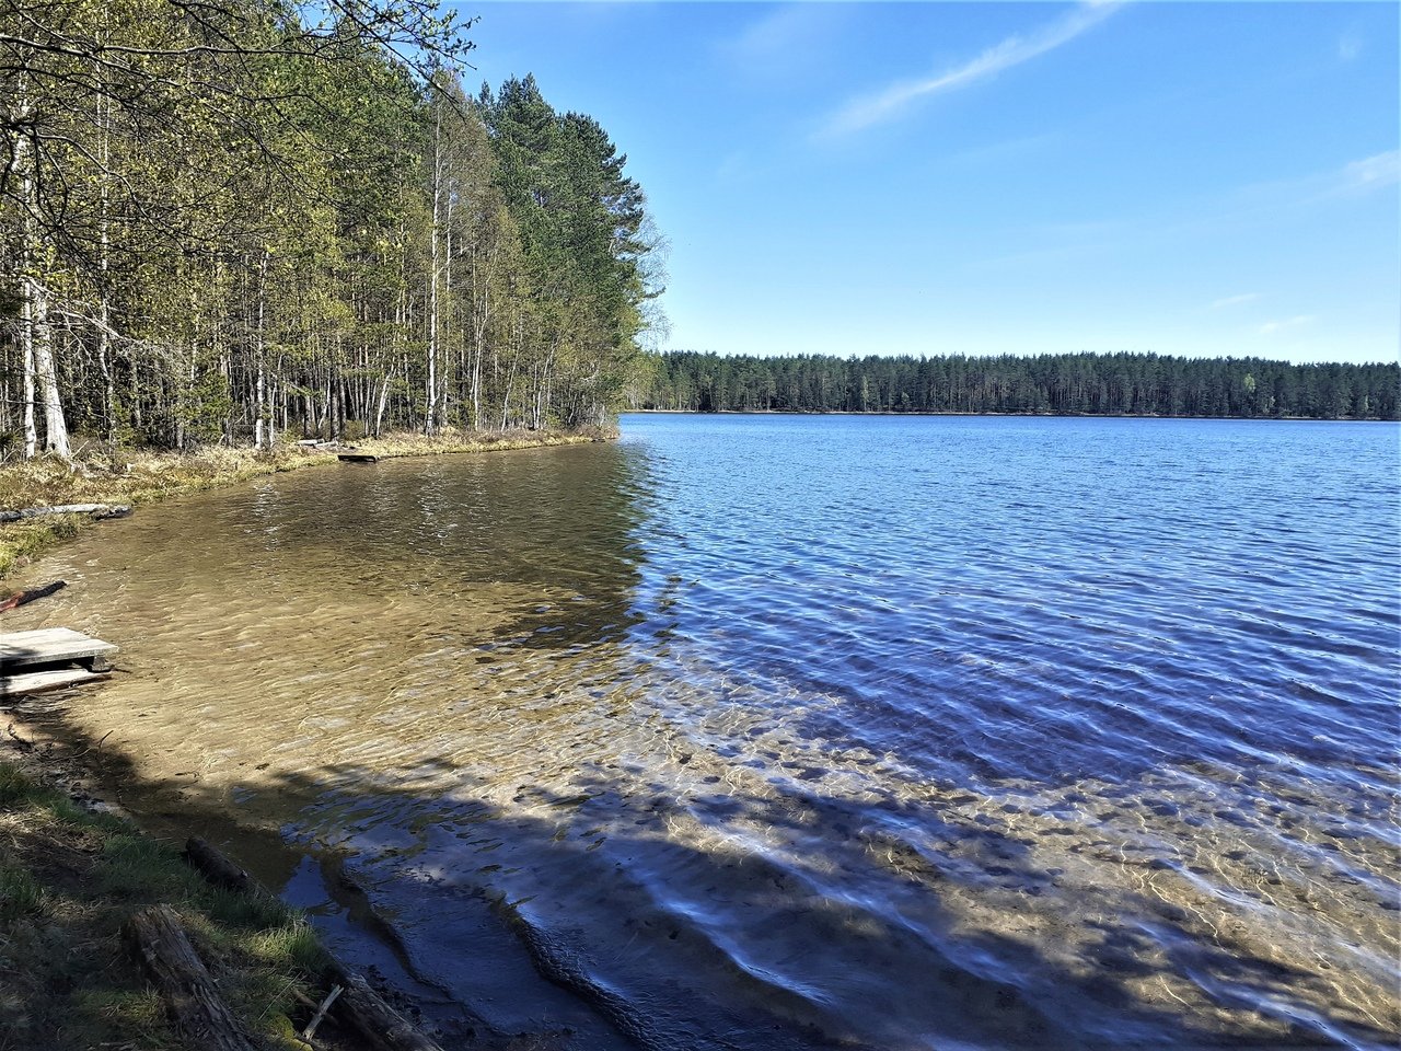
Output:
<instances>
[{"instance_id":1,"label":"shaded near bank with grass and dirt around the thick log","mask_svg":"<svg viewBox=\"0 0 1401 1051\"><path fill-rule=\"evenodd\" d=\"M256 1047L401 1047L382 1037L387 1030L371 1036L360 1029L357 1015L367 1003L394 1013L375 1022L382 1019L399 1034L406 1026L413 1029L413 1041L402 1047L443 1051L440 1041L461 1036L423 1010L425 989L415 987L413 975L385 974L392 970L392 952L364 954L347 966L303 907L248 877L244 859L206 842L213 830L198 811L179 817L165 813L161 830L142 824L123 804L119 788L123 776L136 776L132 755L104 750L105 739L84 736L62 713L11 709L4 716L0 974L14 977L25 995L18 1010L0 1001L0 1024L31 1037L34 1043L25 1047L67 1051L76 1045L168 1047L172 1038L179 1041L185 1030L168 1017L175 1005L153 987L153 975L129 942L133 919L151 908L171 909L216 977L235 1029ZM196 844L202 853L212 852L228 870L238 870L241 886L221 883L221 873L196 860ZM113 942L113 949L120 940L120 950L92 957L85 950L97 939ZM385 947L370 930L357 930L357 939ZM359 982L359 1003L349 1013L332 1009L315 1043L303 1040L298 1034L318 1003L347 981ZM460 1013L468 1019L462 1029L471 1034L471 1047L544 1047L531 1043L534 1034L492 1030L469 1003L462 1003ZM73 1043L76 1036L88 1043Z\"/></svg>"}]
</instances>

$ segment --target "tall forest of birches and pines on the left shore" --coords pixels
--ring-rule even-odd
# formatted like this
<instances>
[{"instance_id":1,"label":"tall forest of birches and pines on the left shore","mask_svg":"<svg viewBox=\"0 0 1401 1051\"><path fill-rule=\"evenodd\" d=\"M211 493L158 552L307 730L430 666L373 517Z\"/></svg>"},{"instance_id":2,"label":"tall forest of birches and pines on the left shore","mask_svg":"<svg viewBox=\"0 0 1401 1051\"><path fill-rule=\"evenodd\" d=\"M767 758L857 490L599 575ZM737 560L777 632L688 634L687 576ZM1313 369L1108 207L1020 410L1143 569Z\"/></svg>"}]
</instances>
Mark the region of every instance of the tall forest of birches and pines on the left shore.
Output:
<instances>
[{"instance_id":1,"label":"tall forest of birches and pines on the left shore","mask_svg":"<svg viewBox=\"0 0 1401 1051\"><path fill-rule=\"evenodd\" d=\"M581 427L660 294L642 188L433 0L0 0L0 454Z\"/></svg>"}]
</instances>

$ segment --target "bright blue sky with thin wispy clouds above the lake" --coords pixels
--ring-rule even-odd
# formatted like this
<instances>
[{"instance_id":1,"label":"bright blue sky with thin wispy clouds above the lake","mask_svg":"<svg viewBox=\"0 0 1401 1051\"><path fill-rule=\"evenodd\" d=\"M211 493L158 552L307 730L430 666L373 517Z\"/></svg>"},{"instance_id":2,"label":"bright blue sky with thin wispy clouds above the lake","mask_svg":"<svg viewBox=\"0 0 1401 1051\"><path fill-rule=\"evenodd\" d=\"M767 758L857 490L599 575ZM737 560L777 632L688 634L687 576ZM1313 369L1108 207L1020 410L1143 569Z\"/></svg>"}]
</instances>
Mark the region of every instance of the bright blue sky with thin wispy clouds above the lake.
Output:
<instances>
[{"instance_id":1,"label":"bright blue sky with thin wispy clouds above the lake","mask_svg":"<svg viewBox=\"0 0 1401 1051\"><path fill-rule=\"evenodd\" d=\"M461 10L629 156L664 348L1397 360L1397 4Z\"/></svg>"}]
</instances>

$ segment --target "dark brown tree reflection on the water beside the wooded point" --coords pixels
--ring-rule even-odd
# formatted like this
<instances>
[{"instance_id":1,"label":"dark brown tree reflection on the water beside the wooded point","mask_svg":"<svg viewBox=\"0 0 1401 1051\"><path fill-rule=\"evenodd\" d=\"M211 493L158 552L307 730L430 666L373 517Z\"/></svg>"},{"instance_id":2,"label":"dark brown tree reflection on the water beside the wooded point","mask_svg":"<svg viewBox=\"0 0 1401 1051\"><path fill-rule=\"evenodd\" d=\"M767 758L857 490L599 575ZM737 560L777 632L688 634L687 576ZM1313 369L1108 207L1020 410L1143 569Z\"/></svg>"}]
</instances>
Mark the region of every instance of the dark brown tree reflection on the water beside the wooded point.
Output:
<instances>
[{"instance_id":1,"label":"dark brown tree reflection on the water beside the wooded point","mask_svg":"<svg viewBox=\"0 0 1401 1051\"><path fill-rule=\"evenodd\" d=\"M368 563L377 590L413 582L468 608L482 586L566 597L520 614L502 632L516 645L616 640L636 619L644 471L615 444L380 465L336 478L319 503L339 517L300 517L294 538Z\"/></svg>"}]
</instances>

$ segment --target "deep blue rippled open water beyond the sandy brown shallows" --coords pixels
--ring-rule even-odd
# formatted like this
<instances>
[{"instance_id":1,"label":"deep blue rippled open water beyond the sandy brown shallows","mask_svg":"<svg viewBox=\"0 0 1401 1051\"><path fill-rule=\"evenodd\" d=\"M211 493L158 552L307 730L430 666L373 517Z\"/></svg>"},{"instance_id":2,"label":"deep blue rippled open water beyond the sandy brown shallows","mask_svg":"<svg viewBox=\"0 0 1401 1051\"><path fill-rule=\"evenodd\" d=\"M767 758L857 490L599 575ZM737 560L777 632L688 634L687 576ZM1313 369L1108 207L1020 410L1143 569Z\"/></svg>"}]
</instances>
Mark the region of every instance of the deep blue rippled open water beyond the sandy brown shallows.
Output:
<instances>
[{"instance_id":1,"label":"deep blue rippled open water beyond the sandy brown shallows","mask_svg":"<svg viewBox=\"0 0 1401 1051\"><path fill-rule=\"evenodd\" d=\"M1395 767L1394 426L628 416L623 432L651 488L643 631L835 698L813 716L825 737L961 783L1212 762L1352 789Z\"/></svg>"}]
</instances>

